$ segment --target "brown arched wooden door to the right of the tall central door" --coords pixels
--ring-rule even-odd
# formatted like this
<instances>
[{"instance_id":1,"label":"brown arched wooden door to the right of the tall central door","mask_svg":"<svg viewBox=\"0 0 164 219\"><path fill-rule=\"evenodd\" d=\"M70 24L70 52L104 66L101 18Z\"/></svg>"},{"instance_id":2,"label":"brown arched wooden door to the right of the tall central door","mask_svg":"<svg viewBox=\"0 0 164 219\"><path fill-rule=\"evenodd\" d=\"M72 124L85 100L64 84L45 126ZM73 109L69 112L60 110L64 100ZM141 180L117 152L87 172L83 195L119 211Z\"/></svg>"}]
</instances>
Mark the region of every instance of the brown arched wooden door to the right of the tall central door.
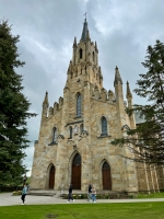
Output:
<instances>
[{"instance_id":1,"label":"brown arched wooden door to the right of the tall central door","mask_svg":"<svg viewBox=\"0 0 164 219\"><path fill-rule=\"evenodd\" d=\"M103 189L112 191L110 166L107 162L104 162L102 166L102 176L103 176Z\"/></svg>"}]
</instances>

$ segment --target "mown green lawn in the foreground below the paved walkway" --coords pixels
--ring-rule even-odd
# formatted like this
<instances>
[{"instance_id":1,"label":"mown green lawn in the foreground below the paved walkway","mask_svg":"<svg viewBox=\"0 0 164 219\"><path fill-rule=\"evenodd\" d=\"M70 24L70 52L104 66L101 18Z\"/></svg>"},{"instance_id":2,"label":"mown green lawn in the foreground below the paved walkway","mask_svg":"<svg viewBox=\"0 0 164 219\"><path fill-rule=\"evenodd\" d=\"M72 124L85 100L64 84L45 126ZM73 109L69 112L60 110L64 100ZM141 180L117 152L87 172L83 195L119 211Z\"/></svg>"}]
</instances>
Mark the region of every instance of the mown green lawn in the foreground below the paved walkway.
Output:
<instances>
[{"instance_id":1,"label":"mown green lawn in the foreground below the paved walkway","mask_svg":"<svg viewBox=\"0 0 164 219\"><path fill-rule=\"evenodd\" d=\"M49 215L49 217L47 217ZM50 217L54 215L55 217ZM2 219L163 219L164 203L65 204L0 207Z\"/></svg>"}]
</instances>

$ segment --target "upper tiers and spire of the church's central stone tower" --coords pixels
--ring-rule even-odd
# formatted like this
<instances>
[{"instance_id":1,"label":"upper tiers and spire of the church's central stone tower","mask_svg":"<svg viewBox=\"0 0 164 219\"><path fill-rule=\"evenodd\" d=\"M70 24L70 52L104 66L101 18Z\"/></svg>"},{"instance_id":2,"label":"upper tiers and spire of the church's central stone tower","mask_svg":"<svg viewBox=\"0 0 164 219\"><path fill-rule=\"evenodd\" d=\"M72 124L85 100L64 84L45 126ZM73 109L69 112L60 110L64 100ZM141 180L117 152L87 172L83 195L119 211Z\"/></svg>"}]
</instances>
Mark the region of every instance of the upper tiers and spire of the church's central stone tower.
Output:
<instances>
[{"instance_id":1,"label":"upper tiers and spire of the church's central stone tower","mask_svg":"<svg viewBox=\"0 0 164 219\"><path fill-rule=\"evenodd\" d=\"M98 49L96 42L91 42L90 32L87 27L86 19L84 20L83 31L79 44L77 44L77 37L73 42L72 60L68 68L67 85L72 83L74 77L84 76L85 81L103 88L103 76L101 67L98 67Z\"/></svg>"}]
</instances>

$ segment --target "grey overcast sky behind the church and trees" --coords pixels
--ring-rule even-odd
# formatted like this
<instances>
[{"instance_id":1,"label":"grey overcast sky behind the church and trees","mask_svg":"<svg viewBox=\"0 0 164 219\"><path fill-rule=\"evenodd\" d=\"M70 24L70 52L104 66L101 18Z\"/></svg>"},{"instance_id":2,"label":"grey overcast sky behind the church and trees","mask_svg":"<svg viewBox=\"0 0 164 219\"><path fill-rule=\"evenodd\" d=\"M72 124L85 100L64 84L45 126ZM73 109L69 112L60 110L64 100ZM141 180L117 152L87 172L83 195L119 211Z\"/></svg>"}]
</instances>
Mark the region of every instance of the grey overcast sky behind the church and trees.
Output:
<instances>
[{"instance_id":1,"label":"grey overcast sky behind the church and trees","mask_svg":"<svg viewBox=\"0 0 164 219\"><path fill-rule=\"evenodd\" d=\"M28 120L28 139L24 163L32 169L34 140L38 139L42 103L48 91L49 105L63 96L67 69L72 58L73 38L79 42L84 13L87 12L90 36L97 42L104 88L114 91L115 67L131 91L137 88L141 65L149 45L164 43L163 0L0 0L0 19L9 20L12 34L20 35L24 94L38 114ZM134 103L144 103L133 94Z\"/></svg>"}]
</instances>

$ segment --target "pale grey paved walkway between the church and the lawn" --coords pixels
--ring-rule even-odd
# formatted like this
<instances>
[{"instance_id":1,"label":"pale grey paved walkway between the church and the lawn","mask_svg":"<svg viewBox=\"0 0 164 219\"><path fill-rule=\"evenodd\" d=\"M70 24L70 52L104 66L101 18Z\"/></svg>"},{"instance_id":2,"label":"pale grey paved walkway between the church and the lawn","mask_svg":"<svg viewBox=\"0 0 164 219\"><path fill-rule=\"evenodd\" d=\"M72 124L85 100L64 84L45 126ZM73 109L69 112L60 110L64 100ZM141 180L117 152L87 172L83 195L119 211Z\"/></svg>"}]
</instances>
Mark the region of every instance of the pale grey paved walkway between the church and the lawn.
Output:
<instances>
[{"instance_id":1,"label":"pale grey paved walkway between the church and the lawn","mask_svg":"<svg viewBox=\"0 0 164 219\"><path fill-rule=\"evenodd\" d=\"M164 198L150 198L150 199L97 199L97 203L145 203L145 201L164 201ZM21 196L12 196L12 193L0 194L0 206L21 205ZM45 204L67 204L66 199L57 196L33 196L27 195L25 205L45 205ZM75 199L74 204L87 204L86 199ZM92 204L91 205L96 205Z\"/></svg>"}]
</instances>

